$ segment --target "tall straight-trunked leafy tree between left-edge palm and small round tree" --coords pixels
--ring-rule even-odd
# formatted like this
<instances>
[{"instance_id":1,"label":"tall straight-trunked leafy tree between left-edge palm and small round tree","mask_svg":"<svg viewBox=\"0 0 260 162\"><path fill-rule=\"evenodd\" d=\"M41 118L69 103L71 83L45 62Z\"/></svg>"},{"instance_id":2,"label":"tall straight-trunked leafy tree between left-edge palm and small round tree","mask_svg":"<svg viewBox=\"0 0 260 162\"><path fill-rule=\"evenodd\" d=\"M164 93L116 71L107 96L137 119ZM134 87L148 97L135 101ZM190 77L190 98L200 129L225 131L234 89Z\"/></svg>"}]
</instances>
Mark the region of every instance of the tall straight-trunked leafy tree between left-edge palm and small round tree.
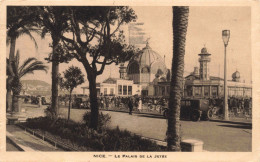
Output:
<instances>
[{"instance_id":1,"label":"tall straight-trunked leafy tree between left-edge palm and small round tree","mask_svg":"<svg viewBox=\"0 0 260 162\"><path fill-rule=\"evenodd\" d=\"M54 112L54 117L57 117L58 112L58 85L59 85L59 63L61 61L61 56L63 55L62 46L60 45L61 36L66 32L68 27L68 15L67 8L64 6L41 6L37 7L39 12L39 17L37 21L41 25L42 38L45 37L47 33L51 35L52 38L52 53L49 57L49 61L52 62L52 101L51 108Z\"/></svg>"}]
</instances>

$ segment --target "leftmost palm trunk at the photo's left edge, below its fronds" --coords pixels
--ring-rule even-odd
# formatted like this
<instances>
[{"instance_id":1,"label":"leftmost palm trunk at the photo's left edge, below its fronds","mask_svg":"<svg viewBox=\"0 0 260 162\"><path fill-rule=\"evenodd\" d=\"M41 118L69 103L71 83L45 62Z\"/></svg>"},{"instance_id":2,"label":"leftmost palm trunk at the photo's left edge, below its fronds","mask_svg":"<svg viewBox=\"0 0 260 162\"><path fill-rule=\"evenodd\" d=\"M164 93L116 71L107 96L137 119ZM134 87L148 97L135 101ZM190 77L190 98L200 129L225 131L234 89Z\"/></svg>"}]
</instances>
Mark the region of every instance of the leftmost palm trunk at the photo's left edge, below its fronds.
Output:
<instances>
[{"instance_id":1,"label":"leftmost palm trunk at the photo's left edge, below its fronds","mask_svg":"<svg viewBox=\"0 0 260 162\"><path fill-rule=\"evenodd\" d=\"M8 69L10 71L10 75L8 76L7 82L6 82L6 109L8 111L12 110L11 82L12 82L13 76L14 76L13 71L12 71L12 64L14 62L15 44L16 44L16 37L12 37L11 43L10 43L9 64L8 64Z\"/></svg>"}]
</instances>

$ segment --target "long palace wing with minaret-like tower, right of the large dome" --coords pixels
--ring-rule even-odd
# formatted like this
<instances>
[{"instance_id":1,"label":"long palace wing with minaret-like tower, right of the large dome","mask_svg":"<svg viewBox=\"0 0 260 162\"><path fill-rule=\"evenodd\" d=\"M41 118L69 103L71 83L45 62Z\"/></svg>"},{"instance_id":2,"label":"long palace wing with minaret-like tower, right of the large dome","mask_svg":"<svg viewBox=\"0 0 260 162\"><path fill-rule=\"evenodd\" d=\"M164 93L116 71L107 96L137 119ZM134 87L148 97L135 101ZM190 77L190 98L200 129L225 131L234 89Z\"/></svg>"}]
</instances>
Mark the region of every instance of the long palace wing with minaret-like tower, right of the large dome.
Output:
<instances>
[{"instance_id":1,"label":"long palace wing with minaret-like tower, right of the large dome","mask_svg":"<svg viewBox=\"0 0 260 162\"><path fill-rule=\"evenodd\" d=\"M210 76L209 63L211 61L207 49L204 47L198 54L200 68L194 67L194 71L183 78L184 98L218 98L224 96L224 79ZM240 82L238 71L232 74L232 80L227 82L229 97L252 97L252 85ZM170 82L159 81L154 84L155 96L169 96Z\"/></svg>"}]
</instances>

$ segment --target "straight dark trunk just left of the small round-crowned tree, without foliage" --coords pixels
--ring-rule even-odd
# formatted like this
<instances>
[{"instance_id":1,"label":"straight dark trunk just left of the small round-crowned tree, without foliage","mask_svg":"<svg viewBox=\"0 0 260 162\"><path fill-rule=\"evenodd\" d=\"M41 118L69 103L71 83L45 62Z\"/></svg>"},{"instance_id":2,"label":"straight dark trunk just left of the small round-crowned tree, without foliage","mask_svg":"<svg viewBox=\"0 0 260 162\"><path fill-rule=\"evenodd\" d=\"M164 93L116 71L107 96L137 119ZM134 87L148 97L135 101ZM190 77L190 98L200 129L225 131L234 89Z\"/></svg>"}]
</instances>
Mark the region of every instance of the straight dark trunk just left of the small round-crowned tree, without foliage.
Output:
<instances>
[{"instance_id":1,"label":"straight dark trunk just left of the small round-crowned tree, without foliage","mask_svg":"<svg viewBox=\"0 0 260 162\"><path fill-rule=\"evenodd\" d=\"M53 47L52 47L52 51L53 51L53 55L52 55L52 89L51 89L51 108L53 109L54 112L54 117L57 118L58 116L58 109L59 109L59 99L58 99L58 95L59 95L59 90L58 90L58 86L59 86L59 61L58 61L58 56L56 53L56 48L57 45L59 43L59 39L55 36L52 36L52 40L53 40Z\"/></svg>"}]
</instances>

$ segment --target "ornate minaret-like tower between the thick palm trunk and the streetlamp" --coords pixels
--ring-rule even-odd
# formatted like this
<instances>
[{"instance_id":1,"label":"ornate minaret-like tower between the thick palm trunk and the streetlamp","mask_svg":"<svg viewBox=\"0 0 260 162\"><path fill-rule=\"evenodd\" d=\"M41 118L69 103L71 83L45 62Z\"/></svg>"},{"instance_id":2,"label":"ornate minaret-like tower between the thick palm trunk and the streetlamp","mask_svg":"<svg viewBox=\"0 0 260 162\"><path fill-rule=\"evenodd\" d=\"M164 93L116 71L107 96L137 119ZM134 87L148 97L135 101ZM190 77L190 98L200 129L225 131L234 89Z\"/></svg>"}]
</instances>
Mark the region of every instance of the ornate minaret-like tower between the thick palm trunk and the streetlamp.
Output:
<instances>
[{"instance_id":1,"label":"ornate minaret-like tower between the thick palm trunk and the streetlamp","mask_svg":"<svg viewBox=\"0 0 260 162\"><path fill-rule=\"evenodd\" d=\"M209 80L209 62L210 55L207 52L207 48L204 47L201 49L201 53L199 54L199 62L200 62L200 79L201 80Z\"/></svg>"}]
</instances>

